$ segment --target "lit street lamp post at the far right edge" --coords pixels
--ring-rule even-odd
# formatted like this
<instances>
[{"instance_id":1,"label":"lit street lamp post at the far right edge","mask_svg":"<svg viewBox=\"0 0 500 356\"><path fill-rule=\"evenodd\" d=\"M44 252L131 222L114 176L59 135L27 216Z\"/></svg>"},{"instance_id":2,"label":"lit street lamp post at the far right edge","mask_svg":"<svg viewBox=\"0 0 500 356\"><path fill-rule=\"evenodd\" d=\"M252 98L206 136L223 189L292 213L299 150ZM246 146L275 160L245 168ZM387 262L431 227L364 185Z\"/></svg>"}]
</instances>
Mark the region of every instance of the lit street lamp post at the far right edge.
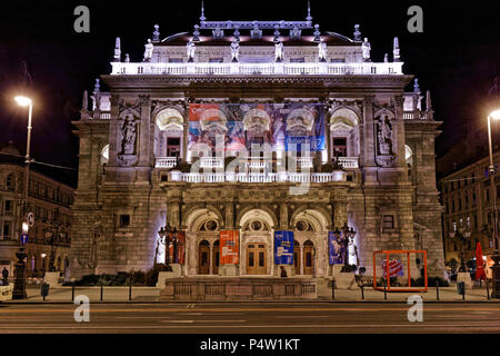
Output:
<instances>
[{"instance_id":1,"label":"lit street lamp post at the far right edge","mask_svg":"<svg viewBox=\"0 0 500 356\"><path fill-rule=\"evenodd\" d=\"M491 145L491 119L498 120L500 119L500 110L492 111L488 116L488 147L490 154L490 185L491 191L493 195L493 246L494 254L491 256L491 259L494 261L494 265L491 267L493 275L493 298L500 298L500 255L498 254L499 249L499 240L498 240L498 212L497 212L497 186L494 184L494 165L493 165L493 148Z\"/></svg>"}]
</instances>

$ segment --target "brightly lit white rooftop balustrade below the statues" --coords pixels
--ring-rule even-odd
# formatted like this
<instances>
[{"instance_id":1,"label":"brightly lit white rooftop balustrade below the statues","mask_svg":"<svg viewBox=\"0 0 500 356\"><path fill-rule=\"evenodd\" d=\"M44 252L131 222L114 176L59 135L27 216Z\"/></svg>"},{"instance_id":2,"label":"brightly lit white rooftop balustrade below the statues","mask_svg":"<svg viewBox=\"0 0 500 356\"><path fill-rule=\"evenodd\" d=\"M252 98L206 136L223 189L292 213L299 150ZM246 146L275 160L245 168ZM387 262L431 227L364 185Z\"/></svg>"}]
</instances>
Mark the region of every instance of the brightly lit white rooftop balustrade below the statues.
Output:
<instances>
[{"instance_id":1,"label":"brightly lit white rooftop balustrade below the statues","mask_svg":"<svg viewBox=\"0 0 500 356\"><path fill-rule=\"evenodd\" d=\"M402 75L402 62L281 62L281 63L241 63L241 62L111 62L111 75L153 75L153 76L350 76L350 75Z\"/></svg>"}]
</instances>

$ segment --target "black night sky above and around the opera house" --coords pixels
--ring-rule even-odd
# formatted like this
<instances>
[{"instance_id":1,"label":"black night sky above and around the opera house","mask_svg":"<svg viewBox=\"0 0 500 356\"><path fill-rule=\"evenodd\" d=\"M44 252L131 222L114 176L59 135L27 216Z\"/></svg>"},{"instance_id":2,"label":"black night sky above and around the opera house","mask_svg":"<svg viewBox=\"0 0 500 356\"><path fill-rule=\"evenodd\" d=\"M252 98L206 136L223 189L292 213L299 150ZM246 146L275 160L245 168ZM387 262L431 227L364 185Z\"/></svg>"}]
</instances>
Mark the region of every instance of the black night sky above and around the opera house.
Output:
<instances>
[{"instance_id":1,"label":"black night sky above and around the opera house","mask_svg":"<svg viewBox=\"0 0 500 356\"><path fill-rule=\"evenodd\" d=\"M153 24L161 38L192 31L201 1L9 1L0 7L0 142L26 145L26 109L12 97L22 83L27 61L34 97L32 154L36 159L77 167L78 139L71 120L78 118L82 91L94 78L110 72L114 38L122 53L142 59ZM90 9L90 33L76 33L73 10ZM423 9L423 33L410 33L407 10ZM208 20L303 20L307 1L206 0ZM500 75L498 1L318 1L311 0L313 23L322 31L352 37L354 23L371 42L371 57L392 57L392 38L400 39L406 73L432 92L436 118L444 131L437 141L441 154L462 132L464 122L481 120L484 98ZM106 90L106 88L102 88ZM411 88L408 88L409 90Z\"/></svg>"}]
</instances>

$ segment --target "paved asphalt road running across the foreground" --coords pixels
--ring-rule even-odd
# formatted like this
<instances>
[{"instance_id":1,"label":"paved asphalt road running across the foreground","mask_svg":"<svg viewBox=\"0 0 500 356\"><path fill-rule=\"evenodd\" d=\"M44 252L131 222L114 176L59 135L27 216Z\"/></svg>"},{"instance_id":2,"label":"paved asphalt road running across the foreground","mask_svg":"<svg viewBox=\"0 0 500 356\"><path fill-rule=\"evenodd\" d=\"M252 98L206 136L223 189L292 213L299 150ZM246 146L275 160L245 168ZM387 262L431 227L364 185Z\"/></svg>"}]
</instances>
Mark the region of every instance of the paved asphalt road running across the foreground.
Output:
<instances>
[{"instance_id":1,"label":"paved asphalt road running across the foreground","mask_svg":"<svg viewBox=\"0 0 500 356\"><path fill-rule=\"evenodd\" d=\"M426 304L408 322L407 304L223 303L91 304L76 323L71 304L0 305L0 334L12 333L500 333L499 304Z\"/></svg>"}]
</instances>

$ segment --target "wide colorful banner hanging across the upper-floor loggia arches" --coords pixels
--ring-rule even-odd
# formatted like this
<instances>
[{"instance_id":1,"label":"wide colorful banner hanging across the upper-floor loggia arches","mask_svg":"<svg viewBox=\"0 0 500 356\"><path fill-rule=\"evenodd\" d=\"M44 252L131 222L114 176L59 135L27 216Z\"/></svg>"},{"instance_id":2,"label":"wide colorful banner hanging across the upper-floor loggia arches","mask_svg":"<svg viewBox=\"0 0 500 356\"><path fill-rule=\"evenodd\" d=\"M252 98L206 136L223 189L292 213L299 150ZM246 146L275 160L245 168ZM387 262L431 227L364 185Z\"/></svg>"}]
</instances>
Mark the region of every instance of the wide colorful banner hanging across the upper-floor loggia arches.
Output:
<instances>
[{"instance_id":1,"label":"wide colorful banner hanging across the upper-floor loggia arches","mask_svg":"<svg viewBox=\"0 0 500 356\"><path fill-rule=\"evenodd\" d=\"M308 144L310 151L321 151L324 116L320 103L191 103L188 149L250 152L252 144L269 144L300 151Z\"/></svg>"}]
</instances>

